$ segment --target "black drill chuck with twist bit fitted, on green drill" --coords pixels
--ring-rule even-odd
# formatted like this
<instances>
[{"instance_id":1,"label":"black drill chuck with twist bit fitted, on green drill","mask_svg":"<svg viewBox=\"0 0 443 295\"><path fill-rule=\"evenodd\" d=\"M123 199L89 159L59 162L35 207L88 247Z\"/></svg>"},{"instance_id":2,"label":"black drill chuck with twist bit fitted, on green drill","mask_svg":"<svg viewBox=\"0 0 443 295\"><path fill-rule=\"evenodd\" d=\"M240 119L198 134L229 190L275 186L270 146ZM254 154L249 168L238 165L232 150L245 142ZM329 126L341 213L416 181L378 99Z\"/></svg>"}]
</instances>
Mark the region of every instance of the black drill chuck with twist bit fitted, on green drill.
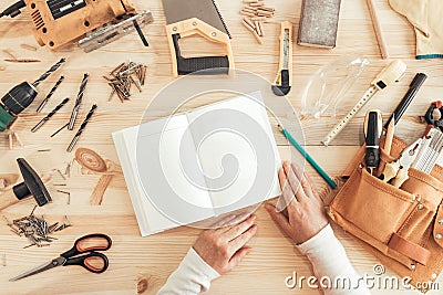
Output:
<instances>
[{"instance_id":1,"label":"black drill chuck with twist bit fitted, on green drill","mask_svg":"<svg viewBox=\"0 0 443 295\"><path fill-rule=\"evenodd\" d=\"M28 82L23 82L12 89L10 89L1 102L3 105L8 106L8 109L16 115L19 115L23 112L37 97L37 86L40 85L47 77L49 77L53 72L55 72L66 60L61 59L56 64L51 66L43 75L41 75L34 83L30 84Z\"/></svg>"}]
</instances>

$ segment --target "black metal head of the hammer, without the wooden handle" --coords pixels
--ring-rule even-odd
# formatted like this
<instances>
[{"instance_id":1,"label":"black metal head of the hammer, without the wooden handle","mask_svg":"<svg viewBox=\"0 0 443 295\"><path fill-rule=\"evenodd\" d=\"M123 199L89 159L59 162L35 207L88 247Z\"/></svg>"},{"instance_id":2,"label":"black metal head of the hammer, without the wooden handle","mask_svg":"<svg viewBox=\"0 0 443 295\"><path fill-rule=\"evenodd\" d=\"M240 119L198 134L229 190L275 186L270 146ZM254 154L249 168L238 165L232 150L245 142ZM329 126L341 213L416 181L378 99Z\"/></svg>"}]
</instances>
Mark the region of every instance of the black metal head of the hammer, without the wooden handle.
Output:
<instances>
[{"instance_id":1,"label":"black metal head of the hammer, without the wooden handle","mask_svg":"<svg viewBox=\"0 0 443 295\"><path fill-rule=\"evenodd\" d=\"M52 201L43 181L39 175L31 168L27 160L19 158L17 159L20 171L23 176L23 182L13 187L13 192L19 200L22 200L29 196L33 196L37 204L42 207Z\"/></svg>"}]
</instances>

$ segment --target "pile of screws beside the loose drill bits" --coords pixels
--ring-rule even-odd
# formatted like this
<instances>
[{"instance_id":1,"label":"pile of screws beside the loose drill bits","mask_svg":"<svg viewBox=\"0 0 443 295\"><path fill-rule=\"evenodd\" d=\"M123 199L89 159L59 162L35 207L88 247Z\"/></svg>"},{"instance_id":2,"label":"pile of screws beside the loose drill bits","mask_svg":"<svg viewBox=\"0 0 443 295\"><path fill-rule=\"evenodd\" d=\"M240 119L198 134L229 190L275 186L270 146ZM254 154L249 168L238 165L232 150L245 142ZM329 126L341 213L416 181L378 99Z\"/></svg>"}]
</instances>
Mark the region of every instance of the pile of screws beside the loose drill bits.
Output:
<instances>
[{"instance_id":1,"label":"pile of screws beside the loose drill bits","mask_svg":"<svg viewBox=\"0 0 443 295\"><path fill-rule=\"evenodd\" d=\"M142 92L142 86L145 85L146 70L147 66L143 64L122 63L109 76L103 76L112 88L109 101L112 99L114 94L119 96L122 103L131 99L131 86L133 84L138 92Z\"/></svg>"}]
</instances>

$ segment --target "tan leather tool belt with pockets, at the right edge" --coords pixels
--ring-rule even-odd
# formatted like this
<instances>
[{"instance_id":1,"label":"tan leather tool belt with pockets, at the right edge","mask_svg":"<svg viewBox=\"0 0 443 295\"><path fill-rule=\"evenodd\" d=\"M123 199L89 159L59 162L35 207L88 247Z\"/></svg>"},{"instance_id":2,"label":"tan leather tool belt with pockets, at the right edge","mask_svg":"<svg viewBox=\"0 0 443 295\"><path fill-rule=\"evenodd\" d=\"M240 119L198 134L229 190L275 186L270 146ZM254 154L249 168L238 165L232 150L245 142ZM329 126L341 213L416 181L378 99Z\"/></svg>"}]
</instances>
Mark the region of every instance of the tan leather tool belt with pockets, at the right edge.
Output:
<instances>
[{"instance_id":1,"label":"tan leather tool belt with pockets, at the right edge","mask_svg":"<svg viewBox=\"0 0 443 295\"><path fill-rule=\"evenodd\" d=\"M328 213L398 274L434 281L443 268L443 169L427 175L411 168L401 188L383 182L384 165L406 146L398 138L393 144L393 157L381 149L374 176L364 167L364 147L358 152Z\"/></svg>"}]
</instances>

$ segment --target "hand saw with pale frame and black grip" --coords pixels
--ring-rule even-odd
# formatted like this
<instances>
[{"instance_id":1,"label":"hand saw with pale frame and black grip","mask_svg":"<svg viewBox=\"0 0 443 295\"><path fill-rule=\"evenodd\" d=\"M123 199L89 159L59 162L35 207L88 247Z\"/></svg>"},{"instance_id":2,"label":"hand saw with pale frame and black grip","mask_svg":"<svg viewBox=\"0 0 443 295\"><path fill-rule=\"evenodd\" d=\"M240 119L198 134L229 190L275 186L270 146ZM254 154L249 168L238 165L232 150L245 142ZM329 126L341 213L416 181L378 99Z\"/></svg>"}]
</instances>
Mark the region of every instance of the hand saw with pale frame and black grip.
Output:
<instances>
[{"instance_id":1,"label":"hand saw with pale frame and black grip","mask_svg":"<svg viewBox=\"0 0 443 295\"><path fill-rule=\"evenodd\" d=\"M202 70L203 74L227 74L234 69L230 34L214 0L162 0L166 14L166 35L169 43L174 76ZM178 40L198 34L225 46L224 56L184 57Z\"/></svg>"}]
</instances>

